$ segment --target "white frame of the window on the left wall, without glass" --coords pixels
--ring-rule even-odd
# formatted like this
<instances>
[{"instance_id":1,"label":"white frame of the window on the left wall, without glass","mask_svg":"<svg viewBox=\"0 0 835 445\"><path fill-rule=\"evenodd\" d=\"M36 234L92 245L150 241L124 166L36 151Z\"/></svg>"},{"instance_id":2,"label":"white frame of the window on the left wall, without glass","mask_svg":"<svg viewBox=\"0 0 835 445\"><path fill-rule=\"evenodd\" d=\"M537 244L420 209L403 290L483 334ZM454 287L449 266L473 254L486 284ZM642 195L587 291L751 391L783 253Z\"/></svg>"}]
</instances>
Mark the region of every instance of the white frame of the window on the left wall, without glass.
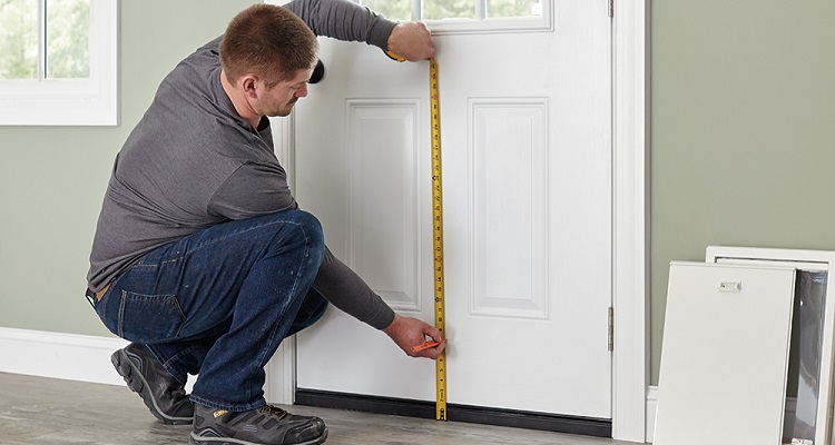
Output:
<instances>
[{"instance_id":1,"label":"white frame of the window on the left wall, without glass","mask_svg":"<svg viewBox=\"0 0 835 445\"><path fill-rule=\"evenodd\" d=\"M117 126L119 2L90 1L90 76L0 80L0 126Z\"/></svg>"}]
</instances>

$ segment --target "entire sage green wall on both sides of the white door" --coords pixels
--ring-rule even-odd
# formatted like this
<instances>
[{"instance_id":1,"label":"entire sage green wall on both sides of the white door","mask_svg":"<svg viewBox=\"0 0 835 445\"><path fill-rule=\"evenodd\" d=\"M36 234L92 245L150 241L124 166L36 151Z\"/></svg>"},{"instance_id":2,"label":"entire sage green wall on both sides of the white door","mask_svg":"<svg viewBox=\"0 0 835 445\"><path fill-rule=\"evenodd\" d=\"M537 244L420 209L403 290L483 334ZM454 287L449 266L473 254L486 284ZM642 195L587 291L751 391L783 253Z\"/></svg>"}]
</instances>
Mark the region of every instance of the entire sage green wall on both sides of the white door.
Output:
<instances>
[{"instance_id":1,"label":"entire sage green wall on both sides of the white door","mask_svg":"<svg viewBox=\"0 0 835 445\"><path fill-rule=\"evenodd\" d=\"M0 127L0 326L109 335L82 291L114 157L168 70L253 2L122 0L121 125ZM655 1L650 73L656 384L670 260L835 249L835 2Z\"/></svg>"}]
</instances>

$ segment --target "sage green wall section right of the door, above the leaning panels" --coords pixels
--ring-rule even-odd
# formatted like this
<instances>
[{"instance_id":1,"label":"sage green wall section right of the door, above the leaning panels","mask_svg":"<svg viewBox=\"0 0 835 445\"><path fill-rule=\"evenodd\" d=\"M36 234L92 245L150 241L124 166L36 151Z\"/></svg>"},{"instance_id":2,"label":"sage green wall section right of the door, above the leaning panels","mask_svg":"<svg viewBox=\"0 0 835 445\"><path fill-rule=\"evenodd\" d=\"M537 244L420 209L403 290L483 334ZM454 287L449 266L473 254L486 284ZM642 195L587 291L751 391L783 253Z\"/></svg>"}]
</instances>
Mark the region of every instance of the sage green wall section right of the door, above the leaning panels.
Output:
<instances>
[{"instance_id":1,"label":"sage green wall section right of the door, above the leaning panels","mask_svg":"<svg viewBox=\"0 0 835 445\"><path fill-rule=\"evenodd\" d=\"M835 2L654 1L650 95L657 384L670 260L835 249Z\"/></svg>"}]
</instances>

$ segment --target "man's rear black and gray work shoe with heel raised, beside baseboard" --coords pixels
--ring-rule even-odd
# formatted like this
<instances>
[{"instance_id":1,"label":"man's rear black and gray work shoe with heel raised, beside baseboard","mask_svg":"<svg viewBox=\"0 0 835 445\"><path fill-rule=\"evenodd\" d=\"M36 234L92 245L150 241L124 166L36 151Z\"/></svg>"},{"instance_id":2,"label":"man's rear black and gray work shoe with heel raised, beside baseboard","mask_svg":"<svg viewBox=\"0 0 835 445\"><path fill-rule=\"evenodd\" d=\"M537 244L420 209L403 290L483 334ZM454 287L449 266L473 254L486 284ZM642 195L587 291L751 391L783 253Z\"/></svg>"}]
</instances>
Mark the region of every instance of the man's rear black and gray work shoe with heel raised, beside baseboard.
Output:
<instances>
[{"instance_id":1,"label":"man's rear black and gray work shoe with heel raised, beside baseboard","mask_svg":"<svg viewBox=\"0 0 835 445\"><path fill-rule=\"evenodd\" d=\"M145 345L131 343L110 356L116 372L139 394L145 406L167 425L187 425L194 419L194 404L183 385L154 357Z\"/></svg>"}]
</instances>

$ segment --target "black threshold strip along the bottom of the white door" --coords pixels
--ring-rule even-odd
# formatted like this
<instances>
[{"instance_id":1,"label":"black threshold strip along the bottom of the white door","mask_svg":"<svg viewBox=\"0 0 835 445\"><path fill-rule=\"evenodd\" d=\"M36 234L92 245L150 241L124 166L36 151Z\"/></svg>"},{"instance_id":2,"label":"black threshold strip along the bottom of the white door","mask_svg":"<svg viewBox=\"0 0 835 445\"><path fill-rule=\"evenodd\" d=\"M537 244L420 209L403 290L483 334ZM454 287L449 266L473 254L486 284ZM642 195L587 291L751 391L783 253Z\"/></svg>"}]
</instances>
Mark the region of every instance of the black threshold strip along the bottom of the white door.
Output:
<instances>
[{"instance_id":1,"label":"black threshold strip along the bottom of the white door","mask_svg":"<svg viewBox=\"0 0 835 445\"><path fill-rule=\"evenodd\" d=\"M317 389L296 389L296 405L418 418L435 418L434 402ZM451 422L611 437L611 419L608 418L566 416L456 404L446 404L446 417Z\"/></svg>"}]
</instances>

